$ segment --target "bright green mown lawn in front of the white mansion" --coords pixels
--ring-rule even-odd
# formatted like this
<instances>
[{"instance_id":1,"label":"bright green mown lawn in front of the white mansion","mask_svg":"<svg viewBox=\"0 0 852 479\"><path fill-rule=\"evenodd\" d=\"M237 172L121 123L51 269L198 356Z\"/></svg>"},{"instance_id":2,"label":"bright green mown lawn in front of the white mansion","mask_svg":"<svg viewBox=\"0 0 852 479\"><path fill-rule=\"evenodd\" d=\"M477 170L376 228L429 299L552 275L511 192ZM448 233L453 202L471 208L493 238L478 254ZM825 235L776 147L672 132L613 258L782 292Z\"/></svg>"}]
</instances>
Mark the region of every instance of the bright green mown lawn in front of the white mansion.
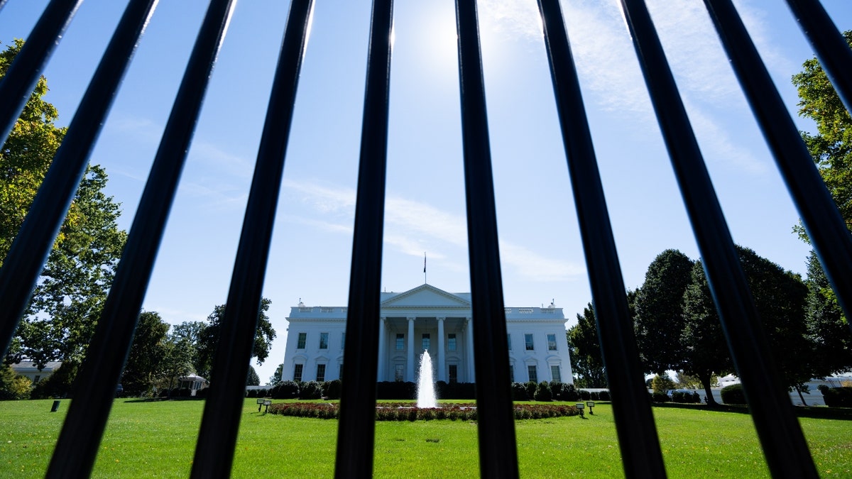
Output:
<instances>
[{"instance_id":1,"label":"bright green mown lawn in front of the white mansion","mask_svg":"<svg viewBox=\"0 0 852 479\"><path fill-rule=\"evenodd\" d=\"M0 477L41 477L68 401L0 402ZM94 477L186 477L192 467L202 401L117 400L101 441ZM736 411L736 410L733 410ZM653 410L670 477L769 477L746 413L703 407ZM820 476L852 476L852 422L800 418ZM623 476L612 409L515 423L522 477ZM337 421L257 413L245 402L233 477L331 477ZM478 476L476 424L377 422L377 477Z\"/></svg>"}]
</instances>

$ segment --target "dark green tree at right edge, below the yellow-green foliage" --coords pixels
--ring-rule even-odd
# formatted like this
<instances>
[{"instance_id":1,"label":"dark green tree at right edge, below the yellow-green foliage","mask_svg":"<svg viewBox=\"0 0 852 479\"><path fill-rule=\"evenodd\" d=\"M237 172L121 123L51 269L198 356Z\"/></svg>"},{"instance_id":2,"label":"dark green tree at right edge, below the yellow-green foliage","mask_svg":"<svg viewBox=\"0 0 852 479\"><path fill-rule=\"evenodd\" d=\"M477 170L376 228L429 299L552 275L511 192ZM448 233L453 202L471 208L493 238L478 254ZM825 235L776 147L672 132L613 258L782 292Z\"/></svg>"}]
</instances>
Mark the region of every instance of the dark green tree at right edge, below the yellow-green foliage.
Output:
<instances>
[{"instance_id":1,"label":"dark green tree at right edge, below the yellow-green foliage","mask_svg":"<svg viewBox=\"0 0 852 479\"><path fill-rule=\"evenodd\" d=\"M805 284L808 286L805 321L809 338L816 346L809 352L814 377L825 378L849 371L852 367L852 336L814 251L810 252L808 259L808 280Z\"/></svg>"}]
</instances>

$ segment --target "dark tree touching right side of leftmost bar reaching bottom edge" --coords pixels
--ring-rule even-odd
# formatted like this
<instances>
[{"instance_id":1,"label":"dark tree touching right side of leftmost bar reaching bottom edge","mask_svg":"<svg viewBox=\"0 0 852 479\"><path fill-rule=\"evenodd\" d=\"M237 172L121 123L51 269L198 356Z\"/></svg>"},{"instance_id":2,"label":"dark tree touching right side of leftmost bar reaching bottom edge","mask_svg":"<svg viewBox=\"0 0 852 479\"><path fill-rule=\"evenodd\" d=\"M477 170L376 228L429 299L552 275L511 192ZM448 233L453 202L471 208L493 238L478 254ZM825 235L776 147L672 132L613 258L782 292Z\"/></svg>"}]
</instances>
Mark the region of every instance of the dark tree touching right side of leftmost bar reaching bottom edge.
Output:
<instances>
[{"instance_id":1,"label":"dark tree touching right side of leftmost bar reaching bottom edge","mask_svg":"<svg viewBox=\"0 0 852 479\"><path fill-rule=\"evenodd\" d=\"M136 323L130 354L124 366L122 386L127 395L143 395L161 375L169 325L153 311L143 311Z\"/></svg>"}]
</instances>

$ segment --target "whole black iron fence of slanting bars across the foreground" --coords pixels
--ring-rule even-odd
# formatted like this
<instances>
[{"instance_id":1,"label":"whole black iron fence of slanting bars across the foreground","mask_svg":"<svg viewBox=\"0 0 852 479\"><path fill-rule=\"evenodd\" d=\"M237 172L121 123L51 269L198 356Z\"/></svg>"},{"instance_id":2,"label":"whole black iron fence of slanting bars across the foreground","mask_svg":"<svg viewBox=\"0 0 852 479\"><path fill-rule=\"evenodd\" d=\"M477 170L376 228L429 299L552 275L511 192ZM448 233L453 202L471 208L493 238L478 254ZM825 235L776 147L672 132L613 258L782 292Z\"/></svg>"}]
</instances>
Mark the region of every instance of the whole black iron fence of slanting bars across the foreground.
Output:
<instances>
[{"instance_id":1,"label":"whole black iron fence of slanting bars across the foreground","mask_svg":"<svg viewBox=\"0 0 852 479\"><path fill-rule=\"evenodd\" d=\"M9 135L52 49L82 0L52 0L0 84L0 133ZM816 0L787 0L844 105L852 106L852 53ZM0 1L0 8L3 6ZM101 124L116 95L156 0L130 0L29 216L0 270L0 328L8 348L53 240L83 176ZM815 477L792 405L769 359L765 333L734 251L689 118L642 0L620 6L636 47L665 138L722 328L773 476ZM730 0L705 0L843 310L852 305L852 240L815 164ZM313 0L292 0L262 130L254 179L216 353L216 383L205 402L193 476L227 476L239 428L245 378L268 262L275 205L285 162ZM643 381L625 285L615 250L566 24L558 0L538 0L556 105L578 212L598 331L611 385L624 470L665 476ZM160 141L124 255L78 375L77 395L62 427L48 476L88 476L128 355L199 109L222 43L233 0L210 0L181 87ZM474 0L457 0L464 179L468 219L480 470L518 476L511 412L505 315L479 25ZM354 245L348 295L348 348L337 440L336 475L370 476L373 460L377 341L393 1L374 0L370 28ZM253 319L250 319L253 318ZM253 322L254 321L254 322ZM107 378L108 380L104 380Z\"/></svg>"}]
</instances>

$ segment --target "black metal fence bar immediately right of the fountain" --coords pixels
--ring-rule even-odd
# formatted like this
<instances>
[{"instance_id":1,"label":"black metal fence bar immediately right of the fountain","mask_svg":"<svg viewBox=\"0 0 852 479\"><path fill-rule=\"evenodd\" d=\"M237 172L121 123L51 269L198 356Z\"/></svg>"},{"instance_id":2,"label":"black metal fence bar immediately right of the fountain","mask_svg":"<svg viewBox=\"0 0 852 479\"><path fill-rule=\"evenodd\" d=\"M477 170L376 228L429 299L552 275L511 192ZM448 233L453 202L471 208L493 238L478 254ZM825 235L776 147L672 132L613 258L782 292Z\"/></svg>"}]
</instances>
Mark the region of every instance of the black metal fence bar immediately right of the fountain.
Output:
<instances>
[{"instance_id":1,"label":"black metal fence bar immediately right of the fountain","mask_svg":"<svg viewBox=\"0 0 852 479\"><path fill-rule=\"evenodd\" d=\"M480 475L517 477L515 417L475 0L456 0Z\"/></svg>"}]
</instances>

